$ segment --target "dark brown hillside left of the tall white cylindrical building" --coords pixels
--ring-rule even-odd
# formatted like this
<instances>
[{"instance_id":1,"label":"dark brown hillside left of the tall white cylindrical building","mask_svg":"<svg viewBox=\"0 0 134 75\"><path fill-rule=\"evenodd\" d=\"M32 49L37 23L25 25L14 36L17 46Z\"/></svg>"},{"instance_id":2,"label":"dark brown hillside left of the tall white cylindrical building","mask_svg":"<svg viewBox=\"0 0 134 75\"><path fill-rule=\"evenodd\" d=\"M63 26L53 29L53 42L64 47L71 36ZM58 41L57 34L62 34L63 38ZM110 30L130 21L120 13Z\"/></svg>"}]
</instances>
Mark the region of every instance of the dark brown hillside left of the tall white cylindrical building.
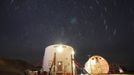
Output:
<instances>
[{"instance_id":1,"label":"dark brown hillside left of the tall white cylindrical building","mask_svg":"<svg viewBox=\"0 0 134 75\"><path fill-rule=\"evenodd\" d=\"M0 58L0 75L23 75L34 66L23 60Z\"/></svg>"}]
</instances>

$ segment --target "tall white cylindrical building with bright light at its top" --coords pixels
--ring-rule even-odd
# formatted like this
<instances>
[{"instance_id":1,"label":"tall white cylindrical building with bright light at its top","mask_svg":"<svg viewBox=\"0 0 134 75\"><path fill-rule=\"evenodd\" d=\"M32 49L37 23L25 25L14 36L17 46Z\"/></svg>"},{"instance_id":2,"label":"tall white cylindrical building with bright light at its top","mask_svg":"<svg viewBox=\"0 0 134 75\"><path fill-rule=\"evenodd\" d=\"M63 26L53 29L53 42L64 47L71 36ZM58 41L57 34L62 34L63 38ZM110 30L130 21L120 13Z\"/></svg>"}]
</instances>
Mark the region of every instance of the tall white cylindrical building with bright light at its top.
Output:
<instances>
[{"instance_id":1,"label":"tall white cylindrical building with bright light at its top","mask_svg":"<svg viewBox=\"0 0 134 75\"><path fill-rule=\"evenodd\" d=\"M75 75L74 49L71 46L55 44L46 47L43 71L52 75Z\"/></svg>"}]
</instances>

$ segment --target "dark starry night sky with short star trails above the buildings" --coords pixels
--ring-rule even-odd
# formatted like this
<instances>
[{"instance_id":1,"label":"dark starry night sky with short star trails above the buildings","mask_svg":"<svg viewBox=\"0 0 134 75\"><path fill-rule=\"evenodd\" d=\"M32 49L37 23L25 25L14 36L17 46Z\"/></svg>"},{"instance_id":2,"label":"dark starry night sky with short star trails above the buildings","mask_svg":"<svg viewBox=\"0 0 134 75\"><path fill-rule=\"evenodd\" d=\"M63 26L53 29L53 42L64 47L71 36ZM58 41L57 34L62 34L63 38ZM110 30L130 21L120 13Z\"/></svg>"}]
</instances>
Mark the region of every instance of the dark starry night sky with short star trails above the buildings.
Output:
<instances>
[{"instance_id":1,"label":"dark starry night sky with short star trails above the buildings","mask_svg":"<svg viewBox=\"0 0 134 75\"><path fill-rule=\"evenodd\" d=\"M33 64L63 43L134 69L134 0L0 0L0 57Z\"/></svg>"}]
</instances>

